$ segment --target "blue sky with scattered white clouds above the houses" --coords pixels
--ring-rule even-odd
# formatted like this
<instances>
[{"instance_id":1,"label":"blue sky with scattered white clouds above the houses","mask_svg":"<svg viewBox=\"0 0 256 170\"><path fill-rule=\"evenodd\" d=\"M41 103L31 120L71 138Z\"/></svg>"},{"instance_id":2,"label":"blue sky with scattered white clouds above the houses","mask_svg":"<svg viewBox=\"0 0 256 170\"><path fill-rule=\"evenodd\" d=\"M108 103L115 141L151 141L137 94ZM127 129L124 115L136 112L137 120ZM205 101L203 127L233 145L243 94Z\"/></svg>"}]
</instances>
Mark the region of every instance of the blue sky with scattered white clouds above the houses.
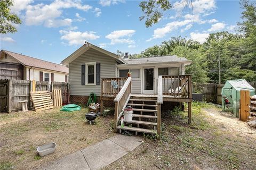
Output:
<instances>
[{"instance_id":1,"label":"blue sky with scattered white clouds above the houses","mask_svg":"<svg viewBox=\"0 0 256 170\"><path fill-rule=\"evenodd\" d=\"M12 11L23 23L1 35L1 49L60 63L85 40L133 54L177 36L203 43L209 33L235 32L241 21L239 1L193 0L193 10L181 2L171 1L174 8L146 28L140 1L16 0Z\"/></svg>"}]
</instances>

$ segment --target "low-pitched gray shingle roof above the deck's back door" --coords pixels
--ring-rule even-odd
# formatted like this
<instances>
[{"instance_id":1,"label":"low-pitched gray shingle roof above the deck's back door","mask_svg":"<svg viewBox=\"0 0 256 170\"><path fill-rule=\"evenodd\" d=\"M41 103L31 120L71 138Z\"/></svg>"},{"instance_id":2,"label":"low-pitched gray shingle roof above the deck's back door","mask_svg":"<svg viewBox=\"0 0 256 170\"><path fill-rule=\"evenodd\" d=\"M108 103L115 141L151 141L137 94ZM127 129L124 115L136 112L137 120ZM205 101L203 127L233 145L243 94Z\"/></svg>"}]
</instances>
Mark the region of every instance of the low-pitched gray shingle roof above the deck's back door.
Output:
<instances>
[{"instance_id":1,"label":"low-pitched gray shingle roof above the deck's back door","mask_svg":"<svg viewBox=\"0 0 256 170\"><path fill-rule=\"evenodd\" d=\"M166 55L166 56L126 59L125 61L128 64L146 64L146 63L181 62L181 61L188 61L188 60L184 57L178 57L176 55Z\"/></svg>"}]
</instances>

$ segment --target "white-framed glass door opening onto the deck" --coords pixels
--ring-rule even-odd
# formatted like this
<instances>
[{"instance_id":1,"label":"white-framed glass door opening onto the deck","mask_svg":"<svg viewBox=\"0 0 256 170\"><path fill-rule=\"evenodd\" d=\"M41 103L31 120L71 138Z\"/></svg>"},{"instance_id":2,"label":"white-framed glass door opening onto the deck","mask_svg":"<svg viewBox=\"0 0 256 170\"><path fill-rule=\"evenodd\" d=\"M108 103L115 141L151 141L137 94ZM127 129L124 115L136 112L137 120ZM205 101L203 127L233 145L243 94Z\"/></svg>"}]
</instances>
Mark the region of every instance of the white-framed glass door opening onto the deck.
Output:
<instances>
[{"instance_id":1,"label":"white-framed glass door opening onto the deck","mask_svg":"<svg viewBox=\"0 0 256 170\"><path fill-rule=\"evenodd\" d=\"M154 94L155 84L155 69L144 68L143 69L143 94Z\"/></svg>"}]
</instances>

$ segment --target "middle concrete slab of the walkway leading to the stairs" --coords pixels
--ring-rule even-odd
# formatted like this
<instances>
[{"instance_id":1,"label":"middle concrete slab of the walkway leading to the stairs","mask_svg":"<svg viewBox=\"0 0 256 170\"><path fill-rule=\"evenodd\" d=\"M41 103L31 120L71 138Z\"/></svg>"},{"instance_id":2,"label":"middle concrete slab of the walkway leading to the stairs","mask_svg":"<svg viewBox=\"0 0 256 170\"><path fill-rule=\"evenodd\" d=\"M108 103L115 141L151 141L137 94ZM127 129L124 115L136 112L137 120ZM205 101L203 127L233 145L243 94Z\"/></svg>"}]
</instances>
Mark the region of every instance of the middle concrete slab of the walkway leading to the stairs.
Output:
<instances>
[{"instance_id":1,"label":"middle concrete slab of the walkway leading to the stairs","mask_svg":"<svg viewBox=\"0 0 256 170\"><path fill-rule=\"evenodd\" d=\"M81 151L93 170L105 167L128 153L124 148L108 139Z\"/></svg>"}]
</instances>

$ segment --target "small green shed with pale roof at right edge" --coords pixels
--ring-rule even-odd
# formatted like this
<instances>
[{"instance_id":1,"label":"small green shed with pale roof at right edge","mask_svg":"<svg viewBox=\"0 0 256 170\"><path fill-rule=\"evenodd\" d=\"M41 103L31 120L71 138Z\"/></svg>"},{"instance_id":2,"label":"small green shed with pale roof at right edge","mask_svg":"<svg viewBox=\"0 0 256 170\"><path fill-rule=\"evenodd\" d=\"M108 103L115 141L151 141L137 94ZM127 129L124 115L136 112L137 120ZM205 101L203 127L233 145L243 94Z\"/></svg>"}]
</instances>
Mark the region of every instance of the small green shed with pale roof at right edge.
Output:
<instances>
[{"instance_id":1,"label":"small green shed with pale roof at right edge","mask_svg":"<svg viewBox=\"0 0 256 170\"><path fill-rule=\"evenodd\" d=\"M233 116L238 117L240 108L240 90L249 90L250 96L255 95L255 89L245 79L227 80L221 91L222 109L224 109L225 97L230 102L231 112Z\"/></svg>"}]
</instances>

